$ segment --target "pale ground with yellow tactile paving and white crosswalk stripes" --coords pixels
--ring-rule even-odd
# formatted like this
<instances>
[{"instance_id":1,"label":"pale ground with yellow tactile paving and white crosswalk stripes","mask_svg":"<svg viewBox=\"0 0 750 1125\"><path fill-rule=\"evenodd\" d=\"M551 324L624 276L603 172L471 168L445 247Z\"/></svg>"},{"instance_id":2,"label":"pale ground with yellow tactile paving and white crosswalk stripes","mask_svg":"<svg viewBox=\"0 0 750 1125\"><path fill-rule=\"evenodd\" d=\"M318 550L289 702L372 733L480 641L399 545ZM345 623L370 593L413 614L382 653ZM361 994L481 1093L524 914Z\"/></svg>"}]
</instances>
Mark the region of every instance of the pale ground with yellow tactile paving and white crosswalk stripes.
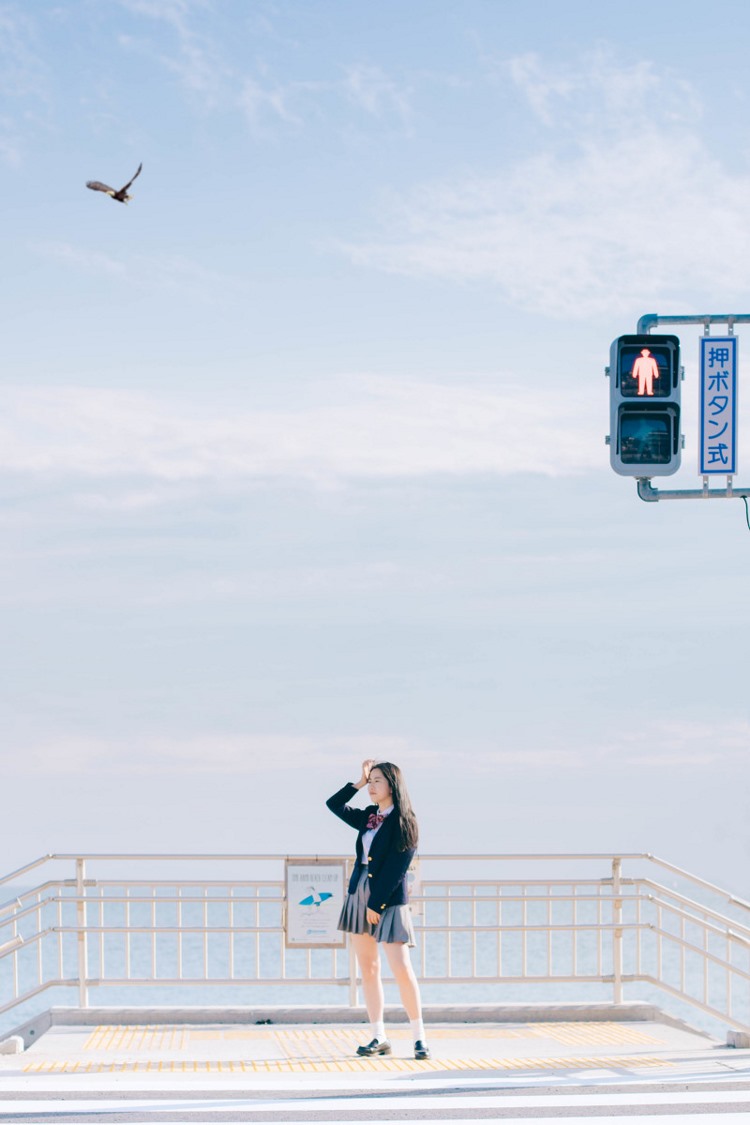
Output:
<instances>
[{"instance_id":1,"label":"pale ground with yellow tactile paving and white crosswalk stripes","mask_svg":"<svg viewBox=\"0 0 750 1125\"><path fill-rule=\"evenodd\" d=\"M431 1019L417 1062L395 1024L394 1054L363 1060L361 1023L64 1015L0 1055L0 1122L750 1120L750 1051L659 1019Z\"/></svg>"}]
</instances>

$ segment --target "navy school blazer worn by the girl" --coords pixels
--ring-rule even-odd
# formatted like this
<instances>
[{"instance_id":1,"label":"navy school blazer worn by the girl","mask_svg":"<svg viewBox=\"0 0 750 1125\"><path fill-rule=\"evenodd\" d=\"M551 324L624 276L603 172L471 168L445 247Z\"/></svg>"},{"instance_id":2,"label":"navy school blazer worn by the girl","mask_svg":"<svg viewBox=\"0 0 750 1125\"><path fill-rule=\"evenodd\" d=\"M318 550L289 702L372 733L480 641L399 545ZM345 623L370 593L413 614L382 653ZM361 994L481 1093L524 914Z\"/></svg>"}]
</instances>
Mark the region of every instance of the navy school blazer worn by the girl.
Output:
<instances>
[{"instance_id":1,"label":"navy school blazer worn by the girl","mask_svg":"<svg viewBox=\"0 0 750 1125\"><path fill-rule=\"evenodd\" d=\"M367 809L353 809L351 804L346 804L358 792L356 785L347 782L343 789L328 798L326 804L341 820L352 828L356 828L356 863L349 881L349 893L354 893L360 876L367 867L368 879L371 881L367 904L377 914L382 914L387 907L405 906L409 901L406 873L416 854L416 848L407 848L405 852L398 850L395 838L398 821L395 814L396 810L394 810L386 817L373 836L370 845L370 860L369 863L365 863L362 834L367 831L368 817L371 812L378 811L378 806L369 804Z\"/></svg>"}]
</instances>

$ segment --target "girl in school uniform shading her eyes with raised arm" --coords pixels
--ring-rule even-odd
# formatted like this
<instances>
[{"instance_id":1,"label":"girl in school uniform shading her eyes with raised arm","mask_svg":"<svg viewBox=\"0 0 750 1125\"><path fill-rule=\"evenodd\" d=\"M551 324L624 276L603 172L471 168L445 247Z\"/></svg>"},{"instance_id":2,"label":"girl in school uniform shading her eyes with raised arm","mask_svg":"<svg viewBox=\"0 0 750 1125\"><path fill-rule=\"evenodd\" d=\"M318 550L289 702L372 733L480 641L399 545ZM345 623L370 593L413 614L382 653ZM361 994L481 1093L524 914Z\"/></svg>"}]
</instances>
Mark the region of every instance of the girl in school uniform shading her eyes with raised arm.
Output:
<instances>
[{"instance_id":1,"label":"girl in school uniform shading her eyes with raised arm","mask_svg":"<svg viewBox=\"0 0 750 1125\"><path fill-rule=\"evenodd\" d=\"M367 809L346 804L364 785L373 803ZM417 821L401 771L390 762L368 758L362 763L362 776L356 784L349 782L326 804L358 831L356 863L338 919L338 929L351 934L372 1029L372 1041L358 1047L356 1053L371 1058L391 1052L383 1025L378 954L381 942L412 1025L414 1058L428 1059L419 986L408 952L415 942L406 872L417 848Z\"/></svg>"}]
</instances>

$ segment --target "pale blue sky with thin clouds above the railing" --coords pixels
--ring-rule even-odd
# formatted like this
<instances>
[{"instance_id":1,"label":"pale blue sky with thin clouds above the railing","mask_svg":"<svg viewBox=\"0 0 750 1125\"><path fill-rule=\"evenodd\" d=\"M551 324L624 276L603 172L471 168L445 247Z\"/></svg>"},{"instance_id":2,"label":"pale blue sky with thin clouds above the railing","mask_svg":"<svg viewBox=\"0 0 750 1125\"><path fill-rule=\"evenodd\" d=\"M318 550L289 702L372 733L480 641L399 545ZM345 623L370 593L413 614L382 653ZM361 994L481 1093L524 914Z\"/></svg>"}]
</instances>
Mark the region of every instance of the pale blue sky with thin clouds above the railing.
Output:
<instances>
[{"instance_id":1,"label":"pale blue sky with thin clouds above the railing","mask_svg":"<svg viewBox=\"0 0 750 1125\"><path fill-rule=\"evenodd\" d=\"M3 871L347 853L324 801L374 757L426 855L750 896L744 510L642 503L604 377L644 313L750 312L749 37L732 0L0 0Z\"/></svg>"}]
</instances>

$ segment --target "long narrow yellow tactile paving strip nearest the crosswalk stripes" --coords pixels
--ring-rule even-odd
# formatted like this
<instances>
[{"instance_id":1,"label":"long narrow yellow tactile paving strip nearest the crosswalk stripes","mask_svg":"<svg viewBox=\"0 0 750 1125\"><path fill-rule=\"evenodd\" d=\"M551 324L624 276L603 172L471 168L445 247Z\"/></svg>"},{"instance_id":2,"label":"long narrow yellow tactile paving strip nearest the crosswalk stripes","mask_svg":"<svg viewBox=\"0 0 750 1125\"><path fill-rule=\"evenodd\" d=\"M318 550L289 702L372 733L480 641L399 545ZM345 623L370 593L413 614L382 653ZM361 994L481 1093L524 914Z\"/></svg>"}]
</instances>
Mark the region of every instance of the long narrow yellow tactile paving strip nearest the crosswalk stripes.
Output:
<instances>
[{"instance_id":1,"label":"long narrow yellow tactile paving strip nearest the crosswalk stripes","mask_svg":"<svg viewBox=\"0 0 750 1125\"><path fill-rule=\"evenodd\" d=\"M268 1059L268 1060L152 1060L147 1062L38 1062L27 1063L24 1072L29 1074L112 1074L118 1072L134 1073L268 1073L268 1074L331 1074L331 1073L372 1073L373 1065L379 1072L424 1072L427 1070L631 1070L642 1066L672 1066L674 1063L663 1059L644 1055L590 1055L571 1059L431 1059L417 1062L415 1059L340 1059L340 1060L305 1060L305 1059Z\"/></svg>"}]
</instances>

